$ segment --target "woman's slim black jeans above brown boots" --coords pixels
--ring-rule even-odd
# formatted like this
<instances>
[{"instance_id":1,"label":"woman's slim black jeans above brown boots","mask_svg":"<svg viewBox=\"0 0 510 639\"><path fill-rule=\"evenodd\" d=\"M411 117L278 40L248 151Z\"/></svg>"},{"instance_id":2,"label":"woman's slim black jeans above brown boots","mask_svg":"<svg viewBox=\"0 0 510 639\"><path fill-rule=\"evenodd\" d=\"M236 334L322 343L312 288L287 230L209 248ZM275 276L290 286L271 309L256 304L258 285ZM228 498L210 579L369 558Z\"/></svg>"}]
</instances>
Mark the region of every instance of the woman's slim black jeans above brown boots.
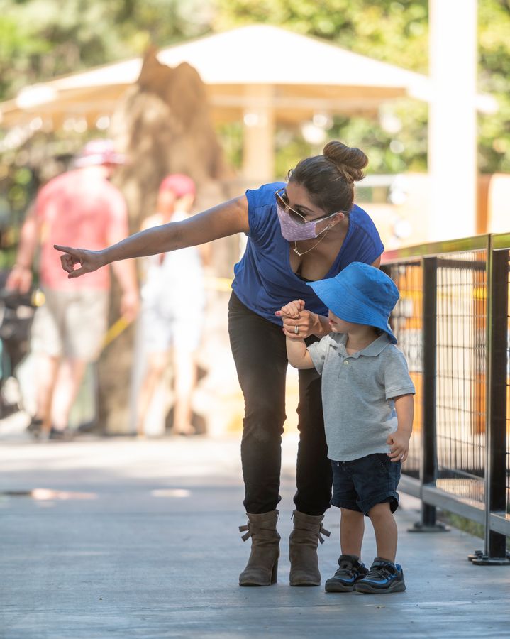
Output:
<instances>
[{"instance_id":1,"label":"woman's slim black jeans above brown boots","mask_svg":"<svg viewBox=\"0 0 510 639\"><path fill-rule=\"evenodd\" d=\"M241 461L248 513L275 510L280 501L282 432L285 421L287 350L278 324L249 310L232 293L228 334L245 399ZM313 339L312 339L313 341ZM322 515L330 506L331 463L322 415L321 377L314 368L299 371L299 448L296 510Z\"/></svg>"}]
</instances>

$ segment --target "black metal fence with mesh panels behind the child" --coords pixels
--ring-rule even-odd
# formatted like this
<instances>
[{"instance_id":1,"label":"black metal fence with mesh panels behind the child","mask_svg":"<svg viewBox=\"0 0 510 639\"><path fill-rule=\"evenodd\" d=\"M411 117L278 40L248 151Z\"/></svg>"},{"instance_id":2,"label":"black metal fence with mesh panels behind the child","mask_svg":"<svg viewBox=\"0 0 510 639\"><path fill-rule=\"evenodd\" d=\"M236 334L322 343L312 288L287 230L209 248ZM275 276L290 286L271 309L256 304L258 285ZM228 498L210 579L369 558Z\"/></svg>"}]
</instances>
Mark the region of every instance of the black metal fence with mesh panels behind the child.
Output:
<instances>
[{"instance_id":1,"label":"black metal fence with mesh panels behind the child","mask_svg":"<svg viewBox=\"0 0 510 639\"><path fill-rule=\"evenodd\" d=\"M400 290L390 322L416 386L401 490L484 525L477 564L510 563L510 234L384 253Z\"/></svg>"}]
</instances>

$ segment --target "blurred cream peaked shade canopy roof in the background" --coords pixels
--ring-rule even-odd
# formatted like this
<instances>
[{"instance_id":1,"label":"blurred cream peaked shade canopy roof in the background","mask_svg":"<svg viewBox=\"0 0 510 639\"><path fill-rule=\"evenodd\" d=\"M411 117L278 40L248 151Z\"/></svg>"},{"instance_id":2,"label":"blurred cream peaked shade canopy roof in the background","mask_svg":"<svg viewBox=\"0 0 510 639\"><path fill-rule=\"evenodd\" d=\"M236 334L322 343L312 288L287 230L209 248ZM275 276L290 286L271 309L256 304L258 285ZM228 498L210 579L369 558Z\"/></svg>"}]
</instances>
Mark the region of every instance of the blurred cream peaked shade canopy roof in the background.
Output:
<instances>
[{"instance_id":1,"label":"blurred cream peaked shade canopy roof in the background","mask_svg":"<svg viewBox=\"0 0 510 639\"><path fill-rule=\"evenodd\" d=\"M292 123L321 111L371 114L382 102L404 96L428 100L431 94L425 75L275 26L210 35L162 49L157 58L170 67L188 62L199 72L216 122L241 119L257 100L266 107L270 102L277 121ZM0 126L30 124L35 117L55 128L70 118L94 126L113 112L141 67L142 58L134 58L26 87L0 104ZM261 94L253 87L269 89ZM492 108L490 100L477 97L477 107Z\"/></svg>"}]
</instances>

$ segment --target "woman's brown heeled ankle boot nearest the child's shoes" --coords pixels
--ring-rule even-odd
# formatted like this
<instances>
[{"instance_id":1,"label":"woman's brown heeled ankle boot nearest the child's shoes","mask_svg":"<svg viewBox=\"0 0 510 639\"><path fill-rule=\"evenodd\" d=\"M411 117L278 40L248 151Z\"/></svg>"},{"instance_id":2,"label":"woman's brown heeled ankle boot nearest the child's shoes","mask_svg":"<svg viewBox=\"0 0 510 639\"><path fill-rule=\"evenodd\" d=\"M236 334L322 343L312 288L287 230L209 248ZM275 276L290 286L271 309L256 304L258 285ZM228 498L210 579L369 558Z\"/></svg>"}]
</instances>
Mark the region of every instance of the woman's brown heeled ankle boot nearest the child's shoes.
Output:
<instances>
[{"instance_id":1,"label":"woman's brown heeled ankle boot nearest the child's shoes","mask_svg":"<svg viewBox=\"0 0 510 639\"><path fill-rule=\"evenodd\" d=\"M320 586L317 546L324 542L322 535L331 534L322 527L324 515L305 515L299 510L292 513L294 530L289 537L290 585Z\"/></svg>"}]
</instances>

